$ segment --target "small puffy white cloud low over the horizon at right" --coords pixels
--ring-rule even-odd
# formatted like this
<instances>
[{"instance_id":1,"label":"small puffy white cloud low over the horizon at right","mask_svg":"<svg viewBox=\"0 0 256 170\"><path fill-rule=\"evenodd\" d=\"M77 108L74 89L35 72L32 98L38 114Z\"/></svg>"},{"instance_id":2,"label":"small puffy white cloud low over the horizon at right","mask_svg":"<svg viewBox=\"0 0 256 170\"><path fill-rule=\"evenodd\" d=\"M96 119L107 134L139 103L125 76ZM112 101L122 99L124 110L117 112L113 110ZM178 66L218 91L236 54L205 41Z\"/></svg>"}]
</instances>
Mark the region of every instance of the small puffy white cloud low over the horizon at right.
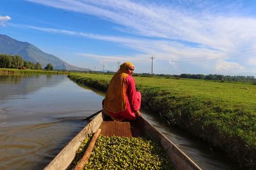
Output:
<instances>
[{"instance_id":1,"label":"small puffy white cloud low over the horizon at right","mask_svg":"<svg viewBox=\"0 0 256 170\"><path fill-rule=\"evenodd\" d=\"M215 65L216 73L219 74L234 74L244 71L244 67L236 62L227 62L220 60Z\"/></svg>"}]
</instances>

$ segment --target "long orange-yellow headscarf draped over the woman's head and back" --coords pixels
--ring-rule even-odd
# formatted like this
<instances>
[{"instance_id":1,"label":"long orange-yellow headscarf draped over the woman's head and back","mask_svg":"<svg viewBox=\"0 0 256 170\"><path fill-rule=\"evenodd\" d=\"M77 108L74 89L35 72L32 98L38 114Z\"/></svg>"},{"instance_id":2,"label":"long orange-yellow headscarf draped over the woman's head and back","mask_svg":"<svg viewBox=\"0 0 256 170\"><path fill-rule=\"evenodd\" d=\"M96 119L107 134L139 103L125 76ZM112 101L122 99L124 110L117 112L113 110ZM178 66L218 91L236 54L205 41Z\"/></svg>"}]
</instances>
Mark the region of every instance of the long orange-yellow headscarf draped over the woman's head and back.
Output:
<instances>
[{"instance_id":1,"label":"long orange-yellow headscarf draped over the woman's head and back","mask_svg":"<svg viewBox=\"0 0 256 170\"><path fill-rule=\"evenodd\" d=\"M125 62L120 66L120 69L116 71L113 78L109 82L108 90L104 102L104 110L111 111L112 113L118 113L126 110L126 78L128 76L125 73L125 69L134 66L131 62Z\"/></svg>"}]
</instances>

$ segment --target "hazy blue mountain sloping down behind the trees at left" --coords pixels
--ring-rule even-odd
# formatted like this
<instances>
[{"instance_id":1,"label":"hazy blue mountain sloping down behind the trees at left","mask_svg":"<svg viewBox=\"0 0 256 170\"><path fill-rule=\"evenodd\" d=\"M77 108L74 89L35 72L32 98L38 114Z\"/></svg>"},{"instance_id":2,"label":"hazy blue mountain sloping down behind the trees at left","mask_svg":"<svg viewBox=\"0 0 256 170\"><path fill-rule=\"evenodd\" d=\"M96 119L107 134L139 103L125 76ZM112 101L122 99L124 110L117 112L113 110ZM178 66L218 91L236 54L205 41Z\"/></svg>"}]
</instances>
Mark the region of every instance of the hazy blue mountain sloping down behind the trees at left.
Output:
<instances>
[{"instance_id":1,"label":"hazy blue mountain sloping down behind the trees at left","mask_svg":"<svg viewBox=\"0 0 256 170\"><path fill-rule=\"evenodd\" d=\"M34 45L27 42L17 41L9 36L0 34L0 53L9 55L20 55L22 59L31 62L39 62L42 67L51 63L54 69L88 71L89 69L76 67L59 59L58 57L45 53Z\"/></svg>"}]
</instances>

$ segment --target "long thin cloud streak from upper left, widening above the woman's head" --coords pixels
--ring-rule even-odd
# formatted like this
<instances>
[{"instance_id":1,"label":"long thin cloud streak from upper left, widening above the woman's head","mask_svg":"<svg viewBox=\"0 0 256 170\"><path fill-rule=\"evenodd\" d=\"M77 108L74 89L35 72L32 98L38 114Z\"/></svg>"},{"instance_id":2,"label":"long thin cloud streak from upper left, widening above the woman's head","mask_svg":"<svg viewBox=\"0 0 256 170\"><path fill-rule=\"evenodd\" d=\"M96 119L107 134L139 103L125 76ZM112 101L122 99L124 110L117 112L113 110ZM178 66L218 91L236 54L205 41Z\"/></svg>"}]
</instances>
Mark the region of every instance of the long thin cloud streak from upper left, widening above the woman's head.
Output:
<instances>
[{"instance_id":1,"label":"long thin cloud streak from upper left, widening above the woman's head","mask_svg":"<svg viewBox=\"0 0 256 170\"><path fill-rule=\"evenodd\" d=\"M26 27L38 31L51 32L52 34L67 34L69 36L83 36L84 38L99 39L102 41L111 41L121 43L130 48L142 52L143 55L134 55L138 57L148 57L155 55L159 59L172 60L172 62L200 62L202 60L227 59L228 56L223 52L211 50L209 48L199 49L193 46L186 46L177 41L155 40L147 38L125 38L117 36L104 36L100 34L88 34L86 32L67 31L63 29L52 29L44 27L35 27L33 25L17 25L15 27ZM193 51L193 53L191 53ZM91 55L92 56L92 55ZM98 56L98 55L97 55ZM124 56L123 56L124 57ZM139 59L140 59L139 58ZM103 59L103 58L102 58Z\"/></svg>"}]
</instances>

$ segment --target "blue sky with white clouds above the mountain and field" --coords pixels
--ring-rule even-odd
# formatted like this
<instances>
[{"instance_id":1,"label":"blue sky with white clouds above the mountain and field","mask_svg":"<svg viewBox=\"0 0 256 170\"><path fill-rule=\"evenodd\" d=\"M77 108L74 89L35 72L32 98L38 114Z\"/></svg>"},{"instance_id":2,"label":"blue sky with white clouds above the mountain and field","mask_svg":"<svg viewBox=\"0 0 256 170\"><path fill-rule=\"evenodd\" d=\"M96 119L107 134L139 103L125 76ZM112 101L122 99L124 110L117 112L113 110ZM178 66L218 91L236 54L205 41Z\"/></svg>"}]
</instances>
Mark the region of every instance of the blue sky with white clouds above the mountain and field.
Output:
<instances>
[{"instance_id":1,"label":"blue sky with white clouds above the mountain and field","mask_svg":"<svg viewBox=\"0 0 256 170\"><path fill-rule=\"evenodd\" d=\"M0 0L0 34L95 71L256 76L251 0Z\"/></svg>"}]
</instances>

